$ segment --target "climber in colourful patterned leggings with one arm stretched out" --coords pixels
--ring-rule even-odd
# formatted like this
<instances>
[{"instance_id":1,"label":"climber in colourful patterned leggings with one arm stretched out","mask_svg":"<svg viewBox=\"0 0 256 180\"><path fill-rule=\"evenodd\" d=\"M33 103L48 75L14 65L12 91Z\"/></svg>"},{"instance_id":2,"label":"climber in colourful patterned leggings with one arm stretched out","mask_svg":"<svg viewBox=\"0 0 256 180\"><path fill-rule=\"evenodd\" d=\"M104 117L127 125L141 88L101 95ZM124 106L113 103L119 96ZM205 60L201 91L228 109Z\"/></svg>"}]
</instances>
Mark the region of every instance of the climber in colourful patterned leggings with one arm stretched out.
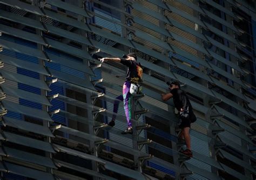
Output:
<instances>
[{"instance_id":1,"label":"climber in colourful patterned leggings with one arm stretched out","mask_svg":"<svg viewBox=\"0 0 256 180\"><path fill-rule=\"evenodd\" d=\"M125 82L123 85L123 95L120 95L117 97L119 100L124 101L124 110L125 110L125 116L127 120L127 128L123 131L122 134L132 134L132 121L131 121L131 93L133 90L130 90L131 86L133 87L133 84L139 84L142 81L142 66L140 63L138 63L137 56L135 53L129 53L126 55L125 58L110 58L110 57L103 57L102 59L99 59L100 62L106 62L106 61L115 61L120 62L128 67ZM118 104L119 102L116 101L114 103L113 112L117 113L118 111ZM112 120L109 123L109 126L114 126L114 121L116 119L116 116L112 117Z\"/></svg>"}]
</instances>

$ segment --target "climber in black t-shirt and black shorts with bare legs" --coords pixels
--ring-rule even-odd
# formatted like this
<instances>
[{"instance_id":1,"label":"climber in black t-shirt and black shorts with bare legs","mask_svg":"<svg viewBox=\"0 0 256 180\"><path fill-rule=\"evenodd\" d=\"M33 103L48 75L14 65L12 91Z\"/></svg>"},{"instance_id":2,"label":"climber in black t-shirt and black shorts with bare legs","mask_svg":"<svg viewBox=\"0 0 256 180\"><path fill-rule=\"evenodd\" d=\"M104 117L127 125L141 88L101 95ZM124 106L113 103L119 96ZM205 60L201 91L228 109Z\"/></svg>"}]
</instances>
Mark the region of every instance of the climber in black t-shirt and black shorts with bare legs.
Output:
<instances>
[{"instance_id":1,"label":"climber in black t-shirt and black shorts with bare legs","mask_svg":"<svg viewBox=\"0 0 256 180\"><path fill-rule=\"evenodd\" d=\"M185 139L187 149L183 154L192 157L192 151L190 146L190 124L196 121L196 116L192 111L190 100L186 93L180 89L178 82L167 82L169 85L170 93L162 93L161 98L166 101L173 98L173 103L176 109L179 111L179 127L181 128L181 139Z\"/></svg>"}]
</instances>

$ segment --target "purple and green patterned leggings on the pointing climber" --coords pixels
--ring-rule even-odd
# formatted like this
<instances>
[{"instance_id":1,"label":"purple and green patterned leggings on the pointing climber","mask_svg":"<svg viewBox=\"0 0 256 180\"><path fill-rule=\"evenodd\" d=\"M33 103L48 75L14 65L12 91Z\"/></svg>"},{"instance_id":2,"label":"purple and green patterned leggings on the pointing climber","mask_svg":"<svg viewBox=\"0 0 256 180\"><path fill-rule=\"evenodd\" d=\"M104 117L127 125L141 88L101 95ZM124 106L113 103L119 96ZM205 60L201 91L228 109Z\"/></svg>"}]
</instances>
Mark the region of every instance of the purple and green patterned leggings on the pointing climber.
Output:
<instances>
[{"instance_id":1,"label":"purple and green patterned leggings on the pointing climber","mask_svg":"<svg viewBox=\"0 0 256 180\"><path fill-rule=\"evenodd\" d=\"M132 126L130 87L131 87L131 83L129 81L125 81L124 85L123 85L123 95L120 95L117 97L117 99L124 101L124 111L125 111L125 116L126 116L126 120L127 120L127 127ZM119 101L115 101L114 108L113 108L114 113L118 112L118 105L119 105ZM116 115L113 115L112 119L116 120Z\"/></svg>"}]
</instances>

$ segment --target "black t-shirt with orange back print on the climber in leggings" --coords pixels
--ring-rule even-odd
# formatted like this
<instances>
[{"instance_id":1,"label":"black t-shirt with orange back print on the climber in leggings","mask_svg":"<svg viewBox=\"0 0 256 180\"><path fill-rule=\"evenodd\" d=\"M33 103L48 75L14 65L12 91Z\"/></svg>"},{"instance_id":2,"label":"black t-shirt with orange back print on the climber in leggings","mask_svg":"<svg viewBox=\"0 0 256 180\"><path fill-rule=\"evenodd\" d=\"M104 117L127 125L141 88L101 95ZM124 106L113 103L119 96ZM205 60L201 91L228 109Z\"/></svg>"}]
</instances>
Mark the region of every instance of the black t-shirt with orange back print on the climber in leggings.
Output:
<instances>
[{"instance_id":1,"label":"black t-shirt with orange back print on the climber in leggings","mask_svg":"<svg viewBox=\"0 0 256 180\"><path fill-rule=\"evenodd\" d=\"M121 59L121 63L128 67L126 81L131 83L140 83L142 81L142 66L133 60Z\"/></svg>"}]
</instances>

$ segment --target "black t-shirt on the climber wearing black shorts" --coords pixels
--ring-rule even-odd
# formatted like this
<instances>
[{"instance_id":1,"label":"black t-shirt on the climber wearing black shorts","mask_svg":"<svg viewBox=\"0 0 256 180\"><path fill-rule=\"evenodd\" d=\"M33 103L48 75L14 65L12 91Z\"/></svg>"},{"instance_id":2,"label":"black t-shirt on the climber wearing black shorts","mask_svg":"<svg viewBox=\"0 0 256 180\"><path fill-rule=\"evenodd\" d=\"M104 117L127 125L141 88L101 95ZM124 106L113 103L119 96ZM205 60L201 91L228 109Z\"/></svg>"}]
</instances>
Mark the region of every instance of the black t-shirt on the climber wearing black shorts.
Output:
<instances>
[{"instance_id":1,"label":"black t-shirt on the climber wearing black shorts","mask_svg":"<svg viewBox=\"0 0 256 180\"><path fill-rule=\"evenodd\" d=\"M183 90L175 88L175 89L172 89L170 92L173 95L172 98L173 98L174 106L178 111L180 111L181 108L185 109L186 106L189 106L190 108L192 108L190 104L190 100L188 99L186 93Z\"/></svg>"}]
</instances>

